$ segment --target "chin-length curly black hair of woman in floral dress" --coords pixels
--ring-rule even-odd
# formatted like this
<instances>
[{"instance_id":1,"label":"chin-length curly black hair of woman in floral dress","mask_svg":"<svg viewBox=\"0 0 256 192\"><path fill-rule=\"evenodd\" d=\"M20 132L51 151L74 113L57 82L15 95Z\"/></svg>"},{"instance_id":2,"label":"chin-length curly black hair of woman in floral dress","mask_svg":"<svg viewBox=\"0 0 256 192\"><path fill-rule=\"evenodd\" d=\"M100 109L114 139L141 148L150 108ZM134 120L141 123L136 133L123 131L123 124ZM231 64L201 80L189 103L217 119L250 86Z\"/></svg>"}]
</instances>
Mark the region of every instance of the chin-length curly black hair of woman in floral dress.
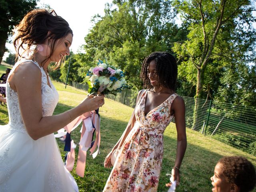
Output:
<instances>
[{"instance_id":1,"label":"chin-length curly black hair of woman in floral dress","mask_svg":"<svg viewBox=\"0 0 256 192\"><path fill-rule=\"evenodd\" d=\"M144 59L140 72L144 88L153 88L147 76L148 65L153 60L156 61L156 74L160 84L174 91L178 76L178 66L174 56L168 52L153 52Z\"/></svg>"}]
</instances>

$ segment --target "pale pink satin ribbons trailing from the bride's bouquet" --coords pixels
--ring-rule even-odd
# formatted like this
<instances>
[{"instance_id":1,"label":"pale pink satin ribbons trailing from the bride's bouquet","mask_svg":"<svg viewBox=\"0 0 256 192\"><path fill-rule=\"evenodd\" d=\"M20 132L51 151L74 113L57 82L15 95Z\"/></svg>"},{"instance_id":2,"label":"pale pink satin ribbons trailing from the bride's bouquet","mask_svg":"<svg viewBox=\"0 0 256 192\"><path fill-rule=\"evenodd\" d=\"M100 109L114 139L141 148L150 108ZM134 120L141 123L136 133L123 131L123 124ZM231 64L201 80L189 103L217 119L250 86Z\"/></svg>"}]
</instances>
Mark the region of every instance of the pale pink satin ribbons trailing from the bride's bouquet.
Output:
<instances>
[{"instance_id":1,"label":"pale pink satin ribbons trailing from the bride's bouquet","mask_svg":"<svg viewBox=\"0 0 256 192\"><path fill-rule=\"evenodd\" d=\"M68 125L64 127L64 129L70 133L72 130L74 130L80 123L82 122L82 129L81 129L81 137L79 142L79 151L78 151L78 159L76 162L76 174L78 174L80 177L84 177L84 169L86 166L86 151L91 147L91 141L92 141L92 134L93 131L96 129L96 140L90 149L90 155L92 155L93 158L97 156L98 153L100 153L99 147L100 147L100 118L98 114L96 114L95 111L86 112L82 114L81 116L74 119L72 122L70 122ZM93 128L92 123L95 128ZM71 142L72 146L72 142ZM94 150L98 146L98 149L95 153ZM93 154L92 154L93 153ZM74 149L71 150L68 153L68 157L66 160L66 167L69 171L71 171L74 167L74 160L75 160L75 154Z\"/></svg>"}]
</instances>

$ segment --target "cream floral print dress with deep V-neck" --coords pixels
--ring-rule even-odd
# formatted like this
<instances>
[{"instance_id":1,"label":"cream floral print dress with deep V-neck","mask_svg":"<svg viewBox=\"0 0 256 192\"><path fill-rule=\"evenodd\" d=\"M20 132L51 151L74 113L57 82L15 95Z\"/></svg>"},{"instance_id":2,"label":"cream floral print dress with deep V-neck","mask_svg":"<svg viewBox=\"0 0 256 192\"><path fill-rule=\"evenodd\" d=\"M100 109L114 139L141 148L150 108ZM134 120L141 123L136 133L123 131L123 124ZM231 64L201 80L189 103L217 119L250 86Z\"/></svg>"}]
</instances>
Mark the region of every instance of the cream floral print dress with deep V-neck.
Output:
<instances>
[{"instance_id":1,"label":"cream floral print dress with deep V-neck","mask_svg":"<svg viewBox=\"0 0 256 192\"><path fill-rule=\"evenodd\" d=\"M163 158L163 134L173 115L170 107L177 94L145 116L144 91L135 109L136 123L128 134L103 192L156 192Z\"/></svg>"}]
</instances>

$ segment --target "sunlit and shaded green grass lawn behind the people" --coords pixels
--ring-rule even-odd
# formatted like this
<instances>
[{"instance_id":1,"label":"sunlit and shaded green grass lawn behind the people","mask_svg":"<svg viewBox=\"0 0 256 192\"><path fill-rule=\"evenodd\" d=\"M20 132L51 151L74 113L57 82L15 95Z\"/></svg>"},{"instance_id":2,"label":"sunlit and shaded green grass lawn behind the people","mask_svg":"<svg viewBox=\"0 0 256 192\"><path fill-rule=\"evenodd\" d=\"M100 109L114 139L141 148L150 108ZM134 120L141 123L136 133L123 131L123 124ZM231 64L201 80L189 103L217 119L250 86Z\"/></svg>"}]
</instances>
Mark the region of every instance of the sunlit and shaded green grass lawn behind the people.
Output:
<instances>
[{"instance_id":1,"label":"sunlit and shaded green grass lawn behind the people","mask_svg":"<svg viewBox=\"0 0 256 192\"><path fill-rule=\"evenodd\" d=\"M60 100L54 114L62 113L76 106L87 94L71 86L67 86L65 89L65 85L58 82L54 82L54 85L60 95ZM105 99L105 105L100 108L100 154L95 159L92 156L87 156L84 178L77 176L75 170L72 171L72 175L75 177L81 192L100 192L103 190L111 171L109 168L104 168L104 159L126 128L132 111L133 109L128 106L107 98ZM6 124L8 122L8 113L5 106L0 106L0 117L0 124ZM80 128L77 128L71 135L76 143L80 139L79 131ZM176 136L175 124L171 123L164 133L164 159L158 187L159 192L167 191L165 183L168 182L168 177L165 175L171 172L172 166L174 165ZM245 156L256 166L255 156L232 148L212 138L204 137L199 132L187 129L187 139L188 146L180 168L181 182L180 187L176 190L177 192L210 192L212 188L210 177L213 175L214 166L218 159L224 155ZM64 143L58 139L57 142L62 157L64 157ZM76 157L77 153L78 147L76 148Z\"/></svg>"}]
</instances>

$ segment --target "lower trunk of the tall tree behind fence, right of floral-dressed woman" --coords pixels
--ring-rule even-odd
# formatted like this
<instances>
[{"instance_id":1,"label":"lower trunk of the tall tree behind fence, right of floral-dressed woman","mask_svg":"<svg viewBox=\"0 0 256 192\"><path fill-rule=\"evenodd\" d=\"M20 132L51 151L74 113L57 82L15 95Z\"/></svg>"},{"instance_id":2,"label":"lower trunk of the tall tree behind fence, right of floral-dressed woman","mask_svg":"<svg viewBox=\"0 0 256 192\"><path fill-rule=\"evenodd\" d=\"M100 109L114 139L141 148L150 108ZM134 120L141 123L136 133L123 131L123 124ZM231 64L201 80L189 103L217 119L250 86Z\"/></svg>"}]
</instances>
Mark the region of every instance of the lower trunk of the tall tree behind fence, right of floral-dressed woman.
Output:
<instances>
[{"instance_id":1,"label":"lower trunk of the tall tree behind fence, right of floral-dressed woman","mask_svg":"<svg viewBox=\"0 0 256 192\"><path fill-rule=\"evenodd\" d=\"M200 114L202 114L202 110L199 108L198 99L202 97L202 79L204 75L204 70L197 69L197 84L196 84L196 100L195 100L195 107L194 107L194 115L193 115L193 130L200 130L202 127L202 123L200 122ZM201 111L201 113L200 113Z\"/></svg>"}]
</instances>

